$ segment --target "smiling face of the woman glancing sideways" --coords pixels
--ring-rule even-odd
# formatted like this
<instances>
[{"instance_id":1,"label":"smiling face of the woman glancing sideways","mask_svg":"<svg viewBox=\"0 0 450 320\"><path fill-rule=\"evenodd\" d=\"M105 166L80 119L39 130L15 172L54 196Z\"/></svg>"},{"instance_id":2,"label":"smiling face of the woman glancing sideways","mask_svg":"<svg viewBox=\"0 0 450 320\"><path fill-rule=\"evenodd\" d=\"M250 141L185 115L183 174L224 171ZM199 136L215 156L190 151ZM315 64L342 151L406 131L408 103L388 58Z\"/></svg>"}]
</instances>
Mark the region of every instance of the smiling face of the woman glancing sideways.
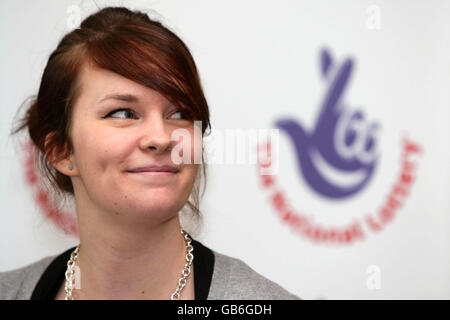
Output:
<instances>
[{"instance_id":1,"label":"smiling face of the woman glancing sideways","mask_svg":"<svg viewBox=\"0 0 450 320\"><path fill-rule=\"evenodd\" d=\"M70 131L77 207L126 218L172 217L188 200L198 172L194 147L201 150L202 142L193 121L158 92L111 71L85 63L79 80ZM177 129L190 134L190 163L177 165L172 158ZM149 165L178 172L130 172Z\"/></svg>"}]
</instances>

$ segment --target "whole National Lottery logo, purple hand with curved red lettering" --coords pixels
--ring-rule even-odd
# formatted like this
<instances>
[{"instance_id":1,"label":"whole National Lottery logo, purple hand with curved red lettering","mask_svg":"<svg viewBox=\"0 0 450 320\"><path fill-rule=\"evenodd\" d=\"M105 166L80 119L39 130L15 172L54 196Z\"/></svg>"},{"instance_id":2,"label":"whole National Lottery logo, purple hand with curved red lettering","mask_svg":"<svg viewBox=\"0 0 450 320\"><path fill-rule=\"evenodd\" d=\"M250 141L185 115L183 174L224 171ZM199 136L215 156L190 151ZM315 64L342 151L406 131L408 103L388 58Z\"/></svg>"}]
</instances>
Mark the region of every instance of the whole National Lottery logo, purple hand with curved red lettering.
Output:
<instances>
[{"instance_id":1,"label":"whole National Lottery logo, purple hand with curved red lettering","mask_svg":"<svg viewBox=\"0 0 450 320\"><path fill-rule=\"evenodd\" d=\"M361 107L354 107L345 95L354 74L354 65L351 58L337 63L329 50L321 50L319 73L326 90L318 106L315 124L312 128L306 128L293 118L278 116L274 121L274 127L286 135L294 151L291 160L297 167L297 173L293 178L305 182L323 201L352 201L352 196L367 190L382 159L379 150L380 123L367 117ZM395 137L389 138L390 141L396 140ZM316 222L314 213L292 207L276 172L260 174L261 186L267 191L269 203L281 222L294 233L321 244L361 241L369 232L378 233L393 221L416 180L423 148L406 134L399 141L401 156L398 175L391 177L391 187L383 190L383 194L387 195L380 198L375 208L356 208L363 210L360 217L339 226ZM270 140L258 144L260 172L277 162L277 150L278 146ZM389 177L383 177L386 178Z\"/></svg>"}]
</instances>

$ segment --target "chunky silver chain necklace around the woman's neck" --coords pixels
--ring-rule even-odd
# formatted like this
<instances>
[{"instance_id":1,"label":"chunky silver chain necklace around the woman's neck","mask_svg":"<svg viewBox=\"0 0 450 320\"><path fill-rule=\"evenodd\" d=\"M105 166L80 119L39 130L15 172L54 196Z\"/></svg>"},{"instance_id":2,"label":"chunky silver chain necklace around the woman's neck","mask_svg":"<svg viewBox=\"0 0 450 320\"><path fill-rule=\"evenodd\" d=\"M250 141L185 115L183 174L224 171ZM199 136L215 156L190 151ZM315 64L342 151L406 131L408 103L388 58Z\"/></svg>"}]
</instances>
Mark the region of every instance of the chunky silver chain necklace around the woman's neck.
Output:
<instances>
[{"instance_id":1,"label":"chunky silver chain necklace around the woman's neck","mask_svg":"<svg viewBox=\"0 0 450 320\"><path fill-rule=\"evenodd\" d=\"M181 277L178 279L177 288L175 292L170 296L171 300L180 299L181 290L186 286L186 279L191 274L191 265L192 260L194 260L194 254L192 251L194 247L191 245L192 239L189 237L189 234L181 229L181 234L184 236L184 242L186 244L186 263L184 264L184 269L181 271ZM73 300L72 290L75 287L75 262L78 258L78 253L80 251L80 246L78 245L75 250L70 254L70 259L67 261L67 270L65 273L66 283L64 286L64 290L66 291L65 300Z\"/></svg>"}]
</instances>

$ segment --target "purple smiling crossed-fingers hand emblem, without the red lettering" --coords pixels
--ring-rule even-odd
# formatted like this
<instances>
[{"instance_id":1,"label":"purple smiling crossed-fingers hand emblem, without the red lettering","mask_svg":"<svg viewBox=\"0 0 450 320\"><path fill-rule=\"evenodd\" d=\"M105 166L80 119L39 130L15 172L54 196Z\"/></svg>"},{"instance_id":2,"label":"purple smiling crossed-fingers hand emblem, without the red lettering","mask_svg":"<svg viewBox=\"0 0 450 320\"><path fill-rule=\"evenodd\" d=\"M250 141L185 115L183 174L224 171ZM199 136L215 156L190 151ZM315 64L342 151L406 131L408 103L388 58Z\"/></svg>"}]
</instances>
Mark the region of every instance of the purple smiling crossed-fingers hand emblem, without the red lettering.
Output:
<instances>
[{"instance_id":1,"label":"purple smiling crossed-fingers hand emblem, without the red lettering","mask_svg":"<svg viewBox=\"0 0 450 320\"><path fill-rule=\"evenodd\" d=\"M307 184L324 197L342 199L361 191L372 178L379 158L380 125L366 120L361 110L352 110L344 99L352 59L337 64L322 50L320 67L328 89L314 128L307 130L291 118L279 119L275 126L289 136Z\"/></svg>"}]
</instances>

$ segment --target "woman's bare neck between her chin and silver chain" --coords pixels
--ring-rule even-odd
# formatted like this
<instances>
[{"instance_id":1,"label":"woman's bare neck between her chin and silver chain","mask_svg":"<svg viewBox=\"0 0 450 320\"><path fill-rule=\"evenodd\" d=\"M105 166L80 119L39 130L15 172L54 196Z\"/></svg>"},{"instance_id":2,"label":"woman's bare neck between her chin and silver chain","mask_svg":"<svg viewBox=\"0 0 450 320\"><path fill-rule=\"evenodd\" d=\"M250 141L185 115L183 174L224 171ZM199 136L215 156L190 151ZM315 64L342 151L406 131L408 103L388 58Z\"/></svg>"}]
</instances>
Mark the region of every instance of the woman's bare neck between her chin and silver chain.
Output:
<instances>
[{"instance_id":1,"label":"woman's bare neck between her chin and silver chain","mask_svg":"<svg viewBox=\"0 0 450 320\"><path fill-rule=\"evenodd\" d=\"M178 215L153 226L84 218L78 219L81 281L75 299L170 299L186 255ZM182 299L192 295L192 279L193 271Z\"/></svg>"}]
</instances>

